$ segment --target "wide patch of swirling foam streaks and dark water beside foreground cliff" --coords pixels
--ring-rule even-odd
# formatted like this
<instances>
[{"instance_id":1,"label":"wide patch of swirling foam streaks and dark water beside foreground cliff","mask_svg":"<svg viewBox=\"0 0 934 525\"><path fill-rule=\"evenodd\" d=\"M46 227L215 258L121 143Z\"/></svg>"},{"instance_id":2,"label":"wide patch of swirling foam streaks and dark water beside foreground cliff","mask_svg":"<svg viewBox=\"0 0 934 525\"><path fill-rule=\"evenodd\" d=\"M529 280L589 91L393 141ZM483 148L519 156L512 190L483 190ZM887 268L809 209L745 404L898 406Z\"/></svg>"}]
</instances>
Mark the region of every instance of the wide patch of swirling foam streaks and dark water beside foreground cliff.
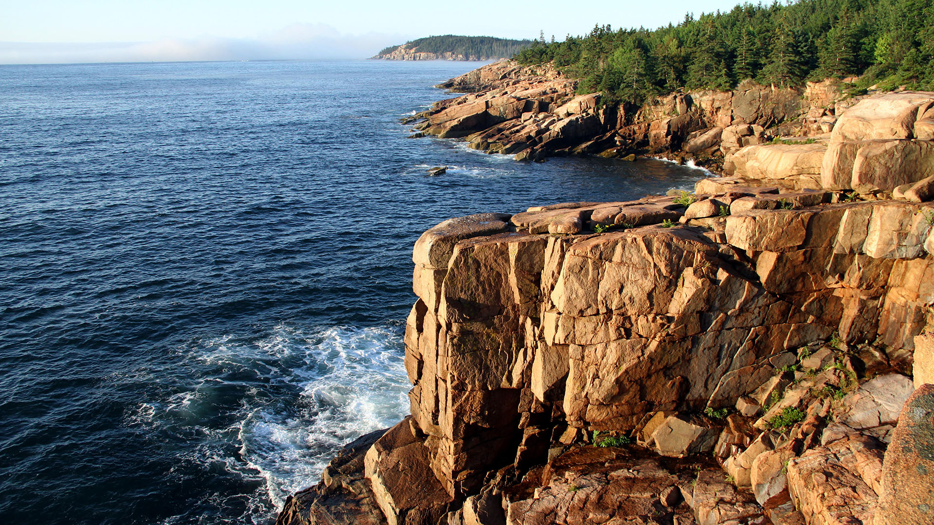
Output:
<instances>
[{"instance_id":1,"label":"wide patch of swirling foam streaks and dark water beside foreground cliff","mask_svg":"<svg viewBox=\"0 0 934 525\"><path fill-rule=\"evenodd\" d=\"M252 487L235 502L246 522L268 522L290 493L318 483L341 447L409 410L398 326L276 326L259 339L224 335L179 352L175 388L140 403L127 425L185 436L178 461Z\"/></svg>"}]
</instances>

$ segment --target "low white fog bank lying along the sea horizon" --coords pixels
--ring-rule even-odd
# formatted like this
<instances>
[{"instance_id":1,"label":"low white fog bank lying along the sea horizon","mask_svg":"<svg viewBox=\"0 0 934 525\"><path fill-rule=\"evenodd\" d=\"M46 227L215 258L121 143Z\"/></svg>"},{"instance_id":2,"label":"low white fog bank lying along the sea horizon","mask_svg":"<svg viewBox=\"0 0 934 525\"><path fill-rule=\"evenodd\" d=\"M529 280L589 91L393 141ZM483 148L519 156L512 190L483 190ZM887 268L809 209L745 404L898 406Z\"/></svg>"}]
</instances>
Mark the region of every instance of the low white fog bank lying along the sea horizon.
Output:
<instances>
[{"instance_id":1,"label":"low white fog bank lying along the sea horizon","mask_svg":"<svg viewBox=\"0 0 934 525\"><path fill-rule=\"evenodd\" d=\"M368 58L410 39L406 35L348 35L323 23L296 23L258 38L186 38L154 42L0 42L0 64L176 62Z\"/></svg>"}]
</instances>

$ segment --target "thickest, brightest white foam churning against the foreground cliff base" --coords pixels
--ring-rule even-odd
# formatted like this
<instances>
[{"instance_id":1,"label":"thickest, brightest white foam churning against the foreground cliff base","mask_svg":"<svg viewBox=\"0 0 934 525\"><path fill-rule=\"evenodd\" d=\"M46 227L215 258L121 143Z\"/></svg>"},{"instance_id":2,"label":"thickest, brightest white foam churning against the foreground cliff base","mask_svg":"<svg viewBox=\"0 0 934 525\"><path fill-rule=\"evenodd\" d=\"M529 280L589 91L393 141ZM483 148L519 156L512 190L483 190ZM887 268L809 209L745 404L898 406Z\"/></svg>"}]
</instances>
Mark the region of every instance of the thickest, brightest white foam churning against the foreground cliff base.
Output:
<instances>
[{"instance_id":1,"label":"thickest, brightest white foam churning against the foreground cliff base","mask_svg":"<svg viewBox=\"0 0 934 525\"><path fill-rule=\"evenodd\" d=\"M379 328L332 328L300 346L323 358L323 373L298 380L300 409L252 410L242 421L240 454L266 479L270 501L318 482L333 454L347 442L387 428L408 413L409 389L402 356L390 344L396 333Z\"/></svg>"}]
</instances>

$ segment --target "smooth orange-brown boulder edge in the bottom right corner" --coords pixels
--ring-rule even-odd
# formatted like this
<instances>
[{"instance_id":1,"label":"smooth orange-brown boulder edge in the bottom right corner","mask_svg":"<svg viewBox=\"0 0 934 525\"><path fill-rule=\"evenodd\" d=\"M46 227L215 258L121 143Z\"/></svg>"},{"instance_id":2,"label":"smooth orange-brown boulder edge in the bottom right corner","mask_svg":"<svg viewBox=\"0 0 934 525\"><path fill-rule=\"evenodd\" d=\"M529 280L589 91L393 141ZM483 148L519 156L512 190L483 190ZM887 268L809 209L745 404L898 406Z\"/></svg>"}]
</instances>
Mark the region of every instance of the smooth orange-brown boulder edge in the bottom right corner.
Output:
<instances>
[{"instance_id":1,"label":"smooth orange-brown boulder edge in the bottom right corner","mask_svg":"<svg viewBox=\"0 0 934 525\"><path fill-rule=\"evenodd\" d=\"M914 390L901 409L883 461L875 523L934 523L934 385Z\"/></svg>"}]
</instances>

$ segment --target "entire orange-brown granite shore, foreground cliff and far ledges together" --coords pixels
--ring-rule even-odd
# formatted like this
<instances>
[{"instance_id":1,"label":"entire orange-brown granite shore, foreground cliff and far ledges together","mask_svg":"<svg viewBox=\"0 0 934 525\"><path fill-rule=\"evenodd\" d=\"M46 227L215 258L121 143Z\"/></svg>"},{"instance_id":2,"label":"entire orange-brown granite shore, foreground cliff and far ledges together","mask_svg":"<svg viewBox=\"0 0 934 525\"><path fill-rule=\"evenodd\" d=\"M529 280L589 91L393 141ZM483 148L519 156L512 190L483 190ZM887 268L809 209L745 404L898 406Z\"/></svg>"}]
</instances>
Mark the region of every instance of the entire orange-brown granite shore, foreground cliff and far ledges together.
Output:
<instances>
[{"instance_id":1,"label":"entire orange-brown granite shore, foreground cliff and far ledges together","mask_svg":"<svg viewBox=\"0 0 934 525\"><path fill-rule=\"evenodd\" d=\"M478 91L420 131L729 177L422 234L412 415L276 523L934 522L934 93L684 93L630 120L530 73L453 79ZM820 139L763 144L792 125Z\"/></svg>"}]
</instances>

